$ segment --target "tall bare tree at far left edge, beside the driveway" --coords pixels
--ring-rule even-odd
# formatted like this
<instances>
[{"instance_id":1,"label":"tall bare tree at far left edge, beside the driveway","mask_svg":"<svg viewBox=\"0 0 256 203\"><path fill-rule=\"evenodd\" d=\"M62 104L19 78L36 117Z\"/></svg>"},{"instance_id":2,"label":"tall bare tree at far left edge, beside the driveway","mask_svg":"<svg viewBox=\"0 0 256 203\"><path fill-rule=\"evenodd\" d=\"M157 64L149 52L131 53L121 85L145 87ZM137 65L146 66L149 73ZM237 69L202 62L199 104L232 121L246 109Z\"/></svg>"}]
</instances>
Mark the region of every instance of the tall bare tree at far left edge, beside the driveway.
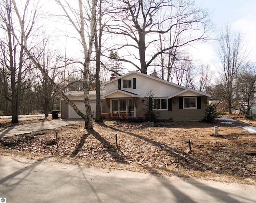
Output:
<instances>
[{"instance_id":1,"label":"tall bare tree at far left edge, beside the driveway","mask_svg":"<svg viewBox=\"0 0 256 203\"><path fill-rule=\"evenodd\" d=\"M18 115L20 110L20 101L22 99L22 92L25 89L22 87L27 87L30 79L27 79L27 71L30 69L30 64L27 60L27 56L24 51L23 45L26 41L24 38L28 39L33 35L33 26L37 18L38 2L34 1L33 5L30 5L30 0L26 0L22 6L19 6L19 10L16 6L15 1L5 0L0 2L0 20L1 28L4 31L5 36L1 39L1 72L4 79L4 85L6 86L6 98L12 103L12 122L18 122ZM20 15L16 15L13 12L13 7L16 7L16 11ZM16 21L23 23L22 30L19 30ZM16 38L13 37L15 33ZM19 46L17 39L20 40ZM24 85L23 85L24 84ZM9 86L10 85L10 88Z\"/></svg>"}]
</instances>

